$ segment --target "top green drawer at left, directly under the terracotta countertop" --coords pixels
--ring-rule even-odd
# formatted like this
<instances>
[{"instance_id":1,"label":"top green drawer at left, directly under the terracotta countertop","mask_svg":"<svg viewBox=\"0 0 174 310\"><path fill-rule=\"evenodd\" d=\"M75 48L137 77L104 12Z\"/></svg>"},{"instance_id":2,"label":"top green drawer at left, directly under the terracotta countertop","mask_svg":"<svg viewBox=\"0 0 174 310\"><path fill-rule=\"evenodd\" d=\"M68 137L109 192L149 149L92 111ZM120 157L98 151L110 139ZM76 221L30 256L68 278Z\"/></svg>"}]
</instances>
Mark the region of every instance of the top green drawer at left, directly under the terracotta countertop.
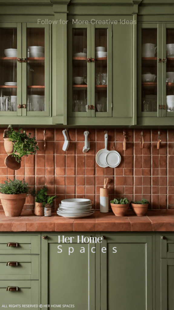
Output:
<instances>
[{"instance_id":1,"label":"top green drawer at left, directly under the terracotta countertop","mask_svg":"<svg viewBox=\"0 0 174 310\"><path fill-rule=\"evenodd\" d=\"M39 236L0 235L0 254L39 254Z\"/></svg>"}]
</instances>

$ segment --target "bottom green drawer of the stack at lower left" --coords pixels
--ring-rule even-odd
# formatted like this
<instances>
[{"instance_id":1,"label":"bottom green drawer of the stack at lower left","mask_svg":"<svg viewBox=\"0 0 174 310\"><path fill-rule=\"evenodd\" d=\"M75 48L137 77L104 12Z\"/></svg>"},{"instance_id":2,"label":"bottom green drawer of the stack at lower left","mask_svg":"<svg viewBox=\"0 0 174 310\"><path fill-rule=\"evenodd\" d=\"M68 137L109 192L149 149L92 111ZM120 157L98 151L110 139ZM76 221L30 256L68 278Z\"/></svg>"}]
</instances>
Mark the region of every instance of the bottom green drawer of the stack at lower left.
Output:
<instances>
[{"instance_id":1,"label":"bottom green drawer of the stack at lower left","mask_svg":"<svg viewBox=\"0 0 174 310\"><path fill-rule=\"evenodd\" d=\"M18 290L7 291L8 286L15 286ZM39 305L39 281L0 281L1 304L9 305ZM28 307L30 308L30 307Z\"/></svg>"}]
</instances>

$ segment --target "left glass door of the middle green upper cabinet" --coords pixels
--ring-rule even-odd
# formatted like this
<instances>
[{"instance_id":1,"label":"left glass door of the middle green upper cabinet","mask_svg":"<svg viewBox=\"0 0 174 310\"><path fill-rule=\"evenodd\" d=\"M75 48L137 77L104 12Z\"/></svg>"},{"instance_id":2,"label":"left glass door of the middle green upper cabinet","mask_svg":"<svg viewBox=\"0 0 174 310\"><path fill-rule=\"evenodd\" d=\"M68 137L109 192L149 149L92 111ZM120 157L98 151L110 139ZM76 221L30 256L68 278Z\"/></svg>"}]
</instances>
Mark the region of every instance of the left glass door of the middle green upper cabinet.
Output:
<instances>
[{"instance_id":1,"label":"left glass door of the middle green upper cabinet","mask_svg":"<svg viewBox=\"0 0 174 310\"><path fill-rule=\"evenodd\" d=\"M69 78L69 115L91 116L91 82L90 82L90 31L91 25L69 25L68 36L68 78Z\"/></svg>"}]
</instances>

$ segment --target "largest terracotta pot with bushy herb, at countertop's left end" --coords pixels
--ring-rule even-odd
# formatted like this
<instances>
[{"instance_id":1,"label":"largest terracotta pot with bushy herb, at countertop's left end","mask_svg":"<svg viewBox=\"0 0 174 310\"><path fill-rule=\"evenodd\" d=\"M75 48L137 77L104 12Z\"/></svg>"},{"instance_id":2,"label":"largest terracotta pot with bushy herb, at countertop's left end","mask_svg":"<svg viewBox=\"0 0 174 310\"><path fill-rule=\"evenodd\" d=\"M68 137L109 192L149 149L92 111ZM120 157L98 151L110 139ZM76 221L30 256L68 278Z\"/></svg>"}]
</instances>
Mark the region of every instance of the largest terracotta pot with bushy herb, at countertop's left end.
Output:
<instances>
[{"instance_id":1,"label":"largest terracotta pot with bushy herb, at countertop's left end","mask_svg":"<svg viewBox=\"0 0 174 310\"><path fill-rule=\"evenodd\" d=\"M0 184L0 199L6 216L20 216L28 192L28 183L14 179Z\"/></svg>"}]
</instances>

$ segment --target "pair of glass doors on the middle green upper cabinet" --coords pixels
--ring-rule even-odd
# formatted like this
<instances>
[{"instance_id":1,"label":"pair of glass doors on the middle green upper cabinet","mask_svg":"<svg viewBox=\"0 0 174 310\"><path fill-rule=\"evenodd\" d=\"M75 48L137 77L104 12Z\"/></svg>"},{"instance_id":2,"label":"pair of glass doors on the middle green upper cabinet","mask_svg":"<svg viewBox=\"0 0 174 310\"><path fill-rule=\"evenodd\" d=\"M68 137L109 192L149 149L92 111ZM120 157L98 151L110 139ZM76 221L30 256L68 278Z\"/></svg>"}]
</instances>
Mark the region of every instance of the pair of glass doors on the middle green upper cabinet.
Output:
<instances>
[{"instance_id":1,"label":"pair of glass doors on the middle green upper cabinet","mask_svg":"<svg viewBox=\"0 0 174 310\"><path fill-rule=\"evenodd\" d=\"M69 24L69 116L112 116L111 35L111 24Z\"/></svg>"}]
</instances>

